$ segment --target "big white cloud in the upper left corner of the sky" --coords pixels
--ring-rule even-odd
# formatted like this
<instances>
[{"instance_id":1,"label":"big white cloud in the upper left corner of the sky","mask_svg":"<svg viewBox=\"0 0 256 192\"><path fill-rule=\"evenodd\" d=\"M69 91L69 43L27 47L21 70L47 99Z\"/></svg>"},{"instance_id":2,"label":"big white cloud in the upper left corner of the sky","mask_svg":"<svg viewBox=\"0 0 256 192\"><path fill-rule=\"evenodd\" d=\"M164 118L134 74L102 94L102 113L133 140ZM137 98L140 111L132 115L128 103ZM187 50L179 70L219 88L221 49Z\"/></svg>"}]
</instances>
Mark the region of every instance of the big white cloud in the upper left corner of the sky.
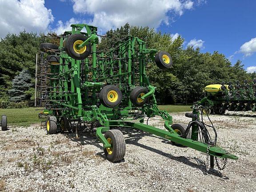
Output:
<instances>
[{"instance_id":1,"label":"big white cloud in the upper left corner of the sky","mask_svg":"<svg viewBox=\"0 0 256 192\"><path fill-rule=\"evenodd\" d=\"M46 32L54 20L44 0L0 0L0 37L8 32Z\"/></svg>"}]
</instances>

